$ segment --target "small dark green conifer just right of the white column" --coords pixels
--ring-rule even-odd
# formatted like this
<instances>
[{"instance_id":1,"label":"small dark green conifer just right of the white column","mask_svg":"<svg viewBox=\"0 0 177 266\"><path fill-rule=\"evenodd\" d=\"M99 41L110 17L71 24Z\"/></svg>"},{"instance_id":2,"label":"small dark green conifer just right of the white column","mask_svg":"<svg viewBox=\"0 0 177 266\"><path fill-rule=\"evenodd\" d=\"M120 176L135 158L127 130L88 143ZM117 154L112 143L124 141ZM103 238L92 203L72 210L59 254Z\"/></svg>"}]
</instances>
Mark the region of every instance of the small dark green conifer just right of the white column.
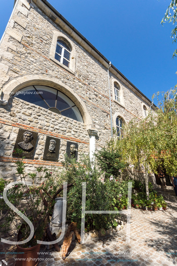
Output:
<instances>
[{"instance_id":1,"label":"small dark green conifer just right of the white column","mask_svg":"<svg viewBox=\"0 0 177 266\"><path fill-rule=\"evenodd\" d=\"M125 164L121 160L121 153L114 145L114 141L110 140L101 151L94 154L97 165L105 172L105 177L110 178L110 175L117 177L120 175Z\"/></svg>"}]
</instances>

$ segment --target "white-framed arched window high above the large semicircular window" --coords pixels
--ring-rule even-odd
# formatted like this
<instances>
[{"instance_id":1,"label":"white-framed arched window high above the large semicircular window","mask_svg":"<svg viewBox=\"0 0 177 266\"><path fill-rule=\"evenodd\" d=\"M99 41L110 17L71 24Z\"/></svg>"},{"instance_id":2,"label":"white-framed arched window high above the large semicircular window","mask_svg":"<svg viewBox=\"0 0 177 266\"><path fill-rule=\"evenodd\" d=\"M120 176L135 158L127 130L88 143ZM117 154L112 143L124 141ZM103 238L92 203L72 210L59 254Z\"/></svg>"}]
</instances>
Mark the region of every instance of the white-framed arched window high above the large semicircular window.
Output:
<instances>
[{"instance_id":1,"label":"white-framed arched window high above the large semicircular window","mask_svg":"<svg viewBox=\"0 0 177 266\"><path fill-rule=\"evenodd\" d=\"M71 49L62 39L57 40L55 59L68 68L70 67Z\"/></svg>"}]
</instances>

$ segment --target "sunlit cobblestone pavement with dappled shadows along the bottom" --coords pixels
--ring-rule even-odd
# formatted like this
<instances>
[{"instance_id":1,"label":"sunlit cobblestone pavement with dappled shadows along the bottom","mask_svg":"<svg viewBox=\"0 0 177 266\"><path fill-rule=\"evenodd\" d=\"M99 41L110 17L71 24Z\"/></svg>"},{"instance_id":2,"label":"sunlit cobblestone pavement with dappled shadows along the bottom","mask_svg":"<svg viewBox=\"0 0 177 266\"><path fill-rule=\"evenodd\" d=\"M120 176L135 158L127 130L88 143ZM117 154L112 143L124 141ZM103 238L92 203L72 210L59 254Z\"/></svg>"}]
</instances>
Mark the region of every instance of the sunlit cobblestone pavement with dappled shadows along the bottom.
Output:
<instances>
[{"instance_id":1,"label":"sunlit cobblestone pavement with dappled shadows along the bottom","mask_svg":"<svg viewBox=\"0 0 177 266\"><path fill-rule=\"evenodd\" d=\"M125 226L117 235L107 240L97 240L85 244L79 244L75 240L72 242L69 249L70 254L65 260L61 259L61 253L56 252L54 248L46 250L42 246L40 251L47 254L39 255L38 265L176 265L177 202L168 200L167 204L166 211L143 211L131 208L129 244L126 244L126 215L122 214L121 220L125 221ZM16 251L16 247L6 246L6 251ZM170 252L176 253L176 255L168 254ZM1 260L5 259L8 266L14 265L14 258L14 255L1 256ZM79 258L82 260L77 260Z\"/></svg>"}]
</instances>

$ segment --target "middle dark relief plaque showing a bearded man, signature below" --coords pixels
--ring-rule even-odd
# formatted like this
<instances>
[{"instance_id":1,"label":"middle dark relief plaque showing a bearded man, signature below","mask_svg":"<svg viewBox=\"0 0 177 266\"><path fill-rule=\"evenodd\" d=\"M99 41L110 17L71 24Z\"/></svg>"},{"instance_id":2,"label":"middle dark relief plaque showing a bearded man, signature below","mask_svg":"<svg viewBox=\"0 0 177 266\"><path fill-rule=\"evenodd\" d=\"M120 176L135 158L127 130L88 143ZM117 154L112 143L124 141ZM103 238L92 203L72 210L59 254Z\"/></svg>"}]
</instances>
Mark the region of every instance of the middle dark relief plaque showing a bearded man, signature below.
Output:
<instances>
[{"instance_id":1,"label":"middle dark relief plaque showing a bearded man, signature below","mask_svg":"<svg viewBox=\"0 0 177 266\"><path fill-rule=\"evenodd\" d=\"M60 139L46 137L43 160L57 161L59 158Z\"/></svg>"}]
</instances>

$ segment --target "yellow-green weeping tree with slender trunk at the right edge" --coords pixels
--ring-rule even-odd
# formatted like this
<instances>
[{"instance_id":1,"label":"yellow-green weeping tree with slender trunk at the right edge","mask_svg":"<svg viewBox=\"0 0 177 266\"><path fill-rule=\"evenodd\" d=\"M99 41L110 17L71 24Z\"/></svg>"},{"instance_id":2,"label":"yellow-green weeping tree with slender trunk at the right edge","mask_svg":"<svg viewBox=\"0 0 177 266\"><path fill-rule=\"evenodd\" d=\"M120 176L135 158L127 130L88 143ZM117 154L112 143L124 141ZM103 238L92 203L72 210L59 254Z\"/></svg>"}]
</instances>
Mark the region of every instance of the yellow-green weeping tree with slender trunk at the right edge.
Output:
<instances>
[{"instance_id":1,"label":"yellow-green weeping tree with slender trunk at the right edge","mask_svg":"<svg viewBox=\"0 0 177 266\"><path fill-rule=\"evenodd\" d=\"M125 125L125 137L116 141L123 162L144 167L147 196L148 171L157 173L161 166L169 175L177 173L176 95L176 89L164 93L156 112L143 120L131 120Z\"/></svg>"}]
</instances>

